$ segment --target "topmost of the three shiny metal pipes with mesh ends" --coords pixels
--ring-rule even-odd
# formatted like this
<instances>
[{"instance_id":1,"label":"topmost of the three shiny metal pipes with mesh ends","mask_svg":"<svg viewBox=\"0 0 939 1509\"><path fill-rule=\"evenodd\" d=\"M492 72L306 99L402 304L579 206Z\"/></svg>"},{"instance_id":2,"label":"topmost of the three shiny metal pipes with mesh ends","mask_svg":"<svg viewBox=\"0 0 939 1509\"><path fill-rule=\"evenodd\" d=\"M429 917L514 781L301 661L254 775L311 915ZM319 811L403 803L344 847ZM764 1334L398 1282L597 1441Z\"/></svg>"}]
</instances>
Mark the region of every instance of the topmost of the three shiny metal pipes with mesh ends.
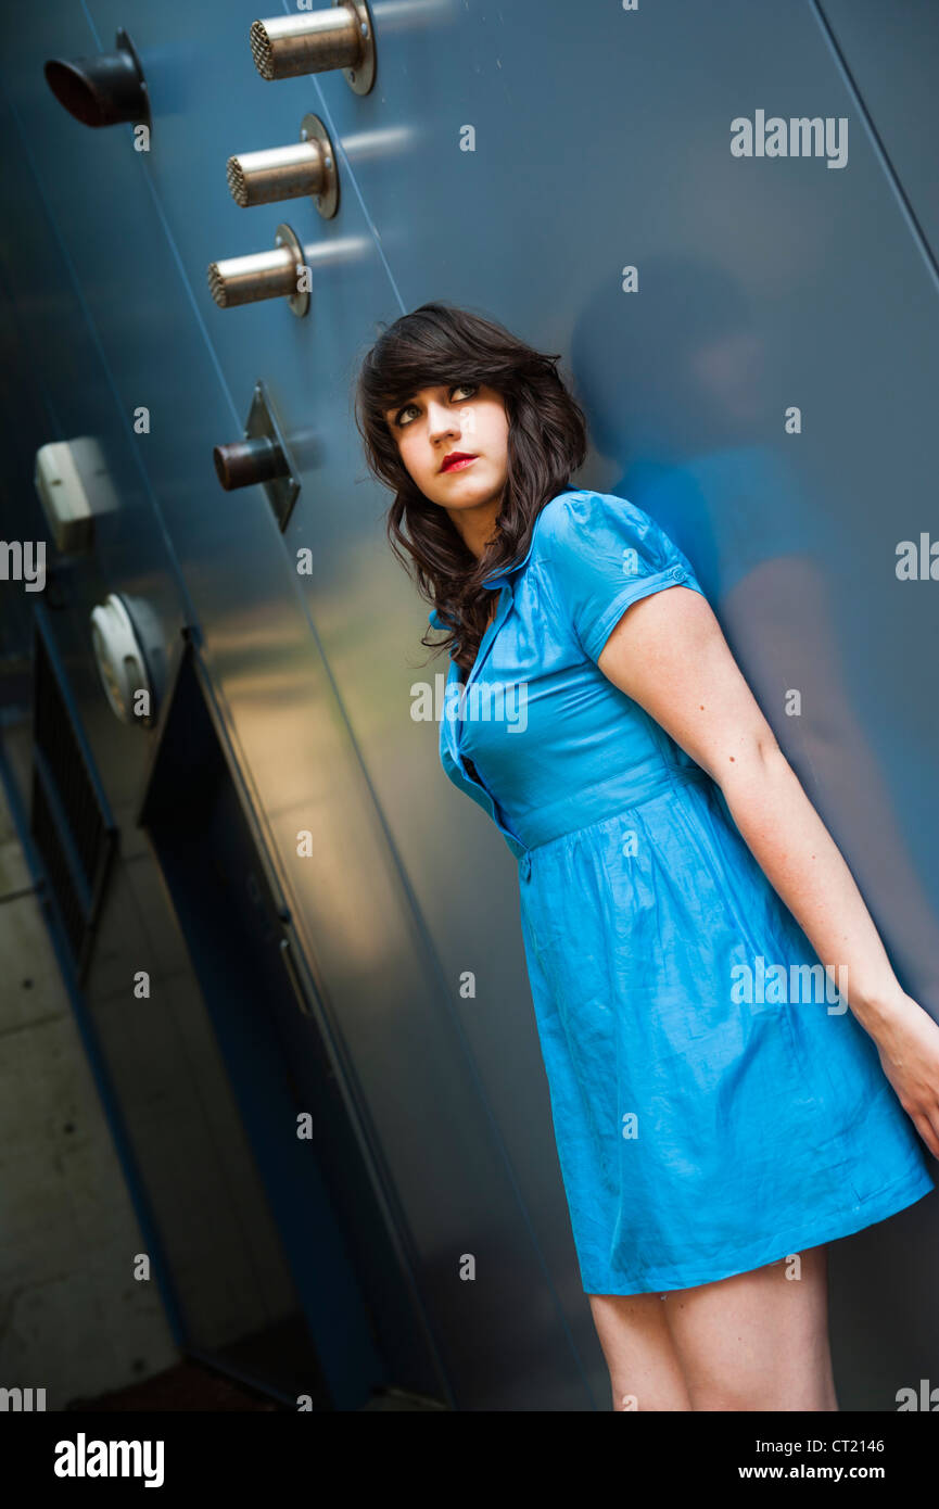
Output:
<instances>
[{"instance_id":1,"label":"topmost of the three shiny metal pipes with mesh ends","mask_svg":"<svg viewBox=\"0 0 939 1509\"><path fill-rule=\"evenodd\" d=\"M332 9L254 21L249 42L261 78L341 68L355 94L368 94L374 83L374 29L367 0L334 0Z\"/></svg>"}]
</instances>

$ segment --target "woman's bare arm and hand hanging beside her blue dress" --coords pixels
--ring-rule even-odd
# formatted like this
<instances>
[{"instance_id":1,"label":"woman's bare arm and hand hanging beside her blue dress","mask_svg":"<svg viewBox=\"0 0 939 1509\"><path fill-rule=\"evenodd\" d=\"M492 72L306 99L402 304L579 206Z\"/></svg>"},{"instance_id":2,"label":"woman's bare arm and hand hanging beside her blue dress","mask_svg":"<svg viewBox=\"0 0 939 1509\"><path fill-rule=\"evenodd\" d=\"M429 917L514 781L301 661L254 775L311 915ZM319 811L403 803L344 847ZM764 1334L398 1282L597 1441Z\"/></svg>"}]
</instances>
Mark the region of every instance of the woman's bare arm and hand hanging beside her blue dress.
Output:
<instances>
[{"instance_id":1,"label":"woman's bare arm and hand hanging beside her blue dress","mask_svg":"<svg viewBox=\"0 0 939 1509\"><path fill-rule=\"evenodd\" d=\"M599 656L717 782L740 833L847 1000L919 1135L939 1157L939 1026L892 967L835 841L779 748L705 598L667 587L633 604Z\"/></svg>"}]
</instances>

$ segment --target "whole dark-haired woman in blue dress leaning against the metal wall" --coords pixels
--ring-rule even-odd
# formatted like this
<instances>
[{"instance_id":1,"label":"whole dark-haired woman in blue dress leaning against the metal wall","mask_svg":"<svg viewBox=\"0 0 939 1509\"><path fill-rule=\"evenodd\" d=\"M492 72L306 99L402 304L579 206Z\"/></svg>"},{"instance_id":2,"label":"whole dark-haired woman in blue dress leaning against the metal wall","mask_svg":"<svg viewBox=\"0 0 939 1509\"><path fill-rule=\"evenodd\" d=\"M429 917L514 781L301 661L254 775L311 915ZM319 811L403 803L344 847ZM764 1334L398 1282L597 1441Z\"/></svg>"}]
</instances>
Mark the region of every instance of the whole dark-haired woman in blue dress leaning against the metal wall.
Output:
<instances>
[{"instance_id":1,"label":"whole dark-haired woman in blue dress leaning against the metal wall","mask_svg":"<svg viewBox=\"0 0 939 1509\"><path fill-rule=\"evenodd\" d=\"M586 436L556 359L424 305L367 355L356 410L393 548L450 635L444 768L519 862L614 1408L836 1409L824 1243L933 1188L939 1026L687 557L630 501L571 489ZM466 717L488 684L525 691L524 729ZM850 1010L794 990L821 964Z\"/></svg>"}]
</instances>

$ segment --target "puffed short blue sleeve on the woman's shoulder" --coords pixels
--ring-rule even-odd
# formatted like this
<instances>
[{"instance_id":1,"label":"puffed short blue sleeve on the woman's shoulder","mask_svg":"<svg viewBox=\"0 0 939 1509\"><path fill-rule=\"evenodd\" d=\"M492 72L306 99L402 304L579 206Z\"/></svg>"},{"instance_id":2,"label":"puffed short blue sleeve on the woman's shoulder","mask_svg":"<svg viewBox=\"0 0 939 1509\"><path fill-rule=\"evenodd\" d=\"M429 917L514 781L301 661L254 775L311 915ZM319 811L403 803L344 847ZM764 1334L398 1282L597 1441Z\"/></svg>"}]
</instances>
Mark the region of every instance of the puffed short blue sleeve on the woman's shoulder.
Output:
<instances>
[{"instance_id":1,"label":"puffed short blue sleeve on the woman's shoulder","mask_svg":"<svg viewBox=\"0 0 939 1509\"><path fill-rule=\"evenodd\" d=\"M705 596L687 557L627 498L578 492L550 507L545 564L551 596L592 661L640 598L681 585Z\"/></svg>"}]
</instances>

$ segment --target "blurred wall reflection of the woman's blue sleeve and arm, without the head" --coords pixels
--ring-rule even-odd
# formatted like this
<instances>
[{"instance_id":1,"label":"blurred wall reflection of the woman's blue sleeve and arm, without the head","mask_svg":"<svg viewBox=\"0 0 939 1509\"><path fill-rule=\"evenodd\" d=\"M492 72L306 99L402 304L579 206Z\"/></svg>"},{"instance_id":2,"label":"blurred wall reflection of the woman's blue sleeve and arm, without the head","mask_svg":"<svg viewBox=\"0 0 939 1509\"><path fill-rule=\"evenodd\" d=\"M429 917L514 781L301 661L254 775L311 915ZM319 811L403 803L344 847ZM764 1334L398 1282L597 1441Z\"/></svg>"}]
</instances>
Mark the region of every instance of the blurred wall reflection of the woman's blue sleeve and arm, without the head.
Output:
<instances>
[{"instance_id":1,"label":"blurred wall reflection of the woman's blue sleeve and arm, without the head","mask_svg":"<svg viewBox=\"0 0 939 1509\"><path fill-rule=\"evenodd\" d=\"M851 542L812 506L777 448L735 444L670 466L633 462L614 490L640 501L693 561L774 735L809 795L824 803L824 821L889 939L894 966L934 1011L939 919L910 863L877 748L891 745L901 789L928 789L930 751L909 727L916 715L909 697L901 700L892 685L903 641L897 635L885 646L870 598L867 626L851 605L842 614L832 608L838 587L856 582L867 563L851 558ZM850 661L864 678L854 688ZM859 694L871 685L879 688L877 715L871 718L868 703L862 718ZM916 785L916 771L925 785Z\"/></svg>"}]
</instances>

